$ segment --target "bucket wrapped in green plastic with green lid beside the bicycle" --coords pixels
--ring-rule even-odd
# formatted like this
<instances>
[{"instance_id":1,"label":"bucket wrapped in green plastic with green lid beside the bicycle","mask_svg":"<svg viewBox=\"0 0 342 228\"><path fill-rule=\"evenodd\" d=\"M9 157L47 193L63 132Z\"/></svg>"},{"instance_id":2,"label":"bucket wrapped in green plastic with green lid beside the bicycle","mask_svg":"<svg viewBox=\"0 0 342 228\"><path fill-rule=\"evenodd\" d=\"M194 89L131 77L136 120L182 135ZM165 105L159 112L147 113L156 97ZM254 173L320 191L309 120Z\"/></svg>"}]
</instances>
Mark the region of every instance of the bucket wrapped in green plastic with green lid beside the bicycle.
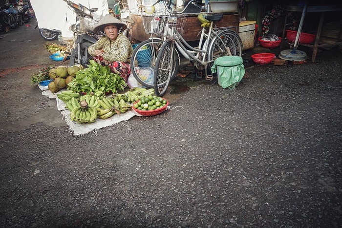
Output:
<instances>
[{"instance_id":1,"label":"bucket wrapped in green plastic with green lid beside the bicycle","mask_svg":"<svg viewBox=\"0 0 342 228\"><path fill-rule=\"evenodd\" d=\"M245 75L245 68L243 60L239 56L223 56L215 60L211 67L212 73L217 72L218 84L222 88L235 89L243 76Z\"/></svg>"}]
</instances>

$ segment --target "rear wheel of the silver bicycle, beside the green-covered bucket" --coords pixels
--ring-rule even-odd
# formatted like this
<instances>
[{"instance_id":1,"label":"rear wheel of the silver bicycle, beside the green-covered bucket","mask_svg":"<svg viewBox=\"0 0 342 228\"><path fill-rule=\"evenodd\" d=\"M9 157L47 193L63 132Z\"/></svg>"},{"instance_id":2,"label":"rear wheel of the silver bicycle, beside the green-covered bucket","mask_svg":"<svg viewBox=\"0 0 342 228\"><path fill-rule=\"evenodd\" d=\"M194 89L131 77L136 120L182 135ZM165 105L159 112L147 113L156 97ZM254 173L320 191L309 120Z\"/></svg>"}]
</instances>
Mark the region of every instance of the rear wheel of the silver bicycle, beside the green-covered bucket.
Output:
<instances>
[{"instance_id":1,"label":"rear wheel of the silver bicycle, beside the green-covered bucket","mask_svg":"<svg viewBox=\"0 0 342 228\"><path fill-rule=\"evenodd\" d=\"M243 44L241 38L233 30L220 32L211 41L208 49L208 60L212 61L221 56L242 57Z\"/></svg>"}]
</instances>

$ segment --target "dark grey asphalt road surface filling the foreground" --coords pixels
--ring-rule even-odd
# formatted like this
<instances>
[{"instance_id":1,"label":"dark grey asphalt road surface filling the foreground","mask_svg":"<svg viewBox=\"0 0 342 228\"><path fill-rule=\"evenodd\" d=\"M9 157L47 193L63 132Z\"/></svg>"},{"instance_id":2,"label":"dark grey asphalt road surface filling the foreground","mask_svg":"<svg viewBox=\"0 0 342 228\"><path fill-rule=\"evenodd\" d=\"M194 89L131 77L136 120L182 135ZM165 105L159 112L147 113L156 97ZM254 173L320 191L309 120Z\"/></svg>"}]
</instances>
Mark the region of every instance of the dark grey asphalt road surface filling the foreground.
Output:
<instances>
[{"instance_id":1,"label":"dark grey asphalt road surface filling the foreground","mask_svg":"<svg viewBox=\"0 0 342 228\"><path fill-rule=\"evenodd\" d=\"M235 90L177 77L171 110L75 137L30 83L52 63L34 24L0 37L1 228L341 226L338 48Z\"/></svg>"}]
</instances>

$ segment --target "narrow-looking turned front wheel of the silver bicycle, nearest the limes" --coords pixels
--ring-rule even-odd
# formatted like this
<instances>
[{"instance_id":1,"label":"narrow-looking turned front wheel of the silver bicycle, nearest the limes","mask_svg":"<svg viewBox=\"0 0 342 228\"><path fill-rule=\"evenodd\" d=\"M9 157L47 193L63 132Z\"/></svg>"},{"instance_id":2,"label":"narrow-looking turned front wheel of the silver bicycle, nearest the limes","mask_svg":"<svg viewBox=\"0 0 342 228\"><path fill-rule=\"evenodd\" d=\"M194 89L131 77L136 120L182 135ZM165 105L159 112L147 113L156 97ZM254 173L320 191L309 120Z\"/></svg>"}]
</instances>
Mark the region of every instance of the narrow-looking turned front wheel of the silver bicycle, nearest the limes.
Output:
<instances>
[{"instance_id":1,"label":"narrow-looking turned front wheel of the silver bicycle, nearest the limes","mask_svg":"<svg viewBox=\"0 0 342 228\"><path fill-rule=\"evenodd\" d=\"M173 52L173 53L172 53ZM155 62L154 92L157 96L164 96L174 72L177 72L179 62L176 60L174 43L165 41L160 48Z\"/></svg>"}]
</instances>

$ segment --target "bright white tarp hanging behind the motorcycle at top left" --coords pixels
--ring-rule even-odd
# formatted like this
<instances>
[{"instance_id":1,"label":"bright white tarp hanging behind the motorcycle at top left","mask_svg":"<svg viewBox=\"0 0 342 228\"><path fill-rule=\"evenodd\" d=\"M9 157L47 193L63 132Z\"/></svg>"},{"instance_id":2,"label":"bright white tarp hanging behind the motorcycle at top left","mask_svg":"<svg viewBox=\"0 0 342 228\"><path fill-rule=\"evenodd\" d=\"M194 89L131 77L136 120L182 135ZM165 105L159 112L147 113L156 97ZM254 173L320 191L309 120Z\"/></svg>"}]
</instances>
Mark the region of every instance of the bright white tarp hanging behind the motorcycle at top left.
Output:
<instances>
[{"instance_id":1,"label":"bright white tarp hanging behind the motorcycle at top left","mask_svg":"<svg viewBox=\"0 0 342 228\"><path fill-rule=\"evenodd\" d=\"M59 29L63 37L73 37L69 27L76 22L76 14L64 0L30 0L30 2L40 28ZM97 9L92 13L96 21L109 13L107 0L74 0L73 2L81 3L89 9Z\"/></svg>"}]
</instances>

